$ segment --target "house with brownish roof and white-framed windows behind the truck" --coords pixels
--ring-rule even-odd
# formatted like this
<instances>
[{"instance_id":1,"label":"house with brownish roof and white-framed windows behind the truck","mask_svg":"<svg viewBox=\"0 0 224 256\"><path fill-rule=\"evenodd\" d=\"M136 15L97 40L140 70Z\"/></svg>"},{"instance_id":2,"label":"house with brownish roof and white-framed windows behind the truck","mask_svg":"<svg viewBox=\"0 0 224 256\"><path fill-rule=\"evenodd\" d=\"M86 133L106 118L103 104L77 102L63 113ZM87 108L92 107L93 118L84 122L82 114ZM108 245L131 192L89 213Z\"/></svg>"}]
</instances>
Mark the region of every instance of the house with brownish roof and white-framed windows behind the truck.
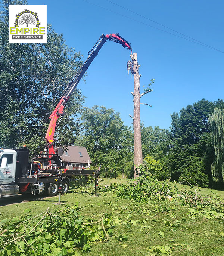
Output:
<instances>
[{"instance_id":1,"label":"house with brownish roof and white-framed windows behind the truck","mask_svg":"<svg viewBox=\"0 0 224 256\"><path fill-rule=\"evenodd\" d=\"M61 166L78 170L90 167L90 156L83 146L68 146L60 157Z\"/></svg>"}]
</instances>

